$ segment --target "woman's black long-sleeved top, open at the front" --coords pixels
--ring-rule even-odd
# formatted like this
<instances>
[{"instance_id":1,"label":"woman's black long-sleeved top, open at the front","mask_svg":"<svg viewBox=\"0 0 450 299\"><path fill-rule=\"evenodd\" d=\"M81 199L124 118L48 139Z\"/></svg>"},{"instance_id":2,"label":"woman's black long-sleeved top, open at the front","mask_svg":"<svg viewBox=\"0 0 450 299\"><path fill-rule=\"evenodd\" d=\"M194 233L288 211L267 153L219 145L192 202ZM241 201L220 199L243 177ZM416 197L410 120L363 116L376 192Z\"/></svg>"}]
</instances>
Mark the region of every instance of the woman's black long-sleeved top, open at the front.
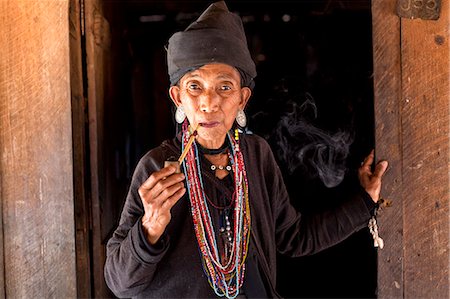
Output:
<instances>
[{"instance_id":1,"label":"woman's black long-sleeved top, open at the front","mask_svg":"<svg viewBox=\"0 0 450 299\"><path fill-rule=\"evenodd\" d=\"M302 215L290 204L267 142L256 135L245 135L240 148L251 210L251 267L243 289L249 297L256 291L275 298L279 297L275 286L277 252L298 257L328 248L365 227L375 204L361 190L332 211ZM165 160L180 152L178 139L165 141L149 151L136 167L119 225L107 244L105 279L118 297L217 297L202 269L187 194L172 208L171 222L155 246L148 244L142 232L144 210L138 188L152 172L163 167ZM203 176L208 186L214 186L214 179ZM259 289L261 285L264 290Z\"/></svg>"}]
</instances>

